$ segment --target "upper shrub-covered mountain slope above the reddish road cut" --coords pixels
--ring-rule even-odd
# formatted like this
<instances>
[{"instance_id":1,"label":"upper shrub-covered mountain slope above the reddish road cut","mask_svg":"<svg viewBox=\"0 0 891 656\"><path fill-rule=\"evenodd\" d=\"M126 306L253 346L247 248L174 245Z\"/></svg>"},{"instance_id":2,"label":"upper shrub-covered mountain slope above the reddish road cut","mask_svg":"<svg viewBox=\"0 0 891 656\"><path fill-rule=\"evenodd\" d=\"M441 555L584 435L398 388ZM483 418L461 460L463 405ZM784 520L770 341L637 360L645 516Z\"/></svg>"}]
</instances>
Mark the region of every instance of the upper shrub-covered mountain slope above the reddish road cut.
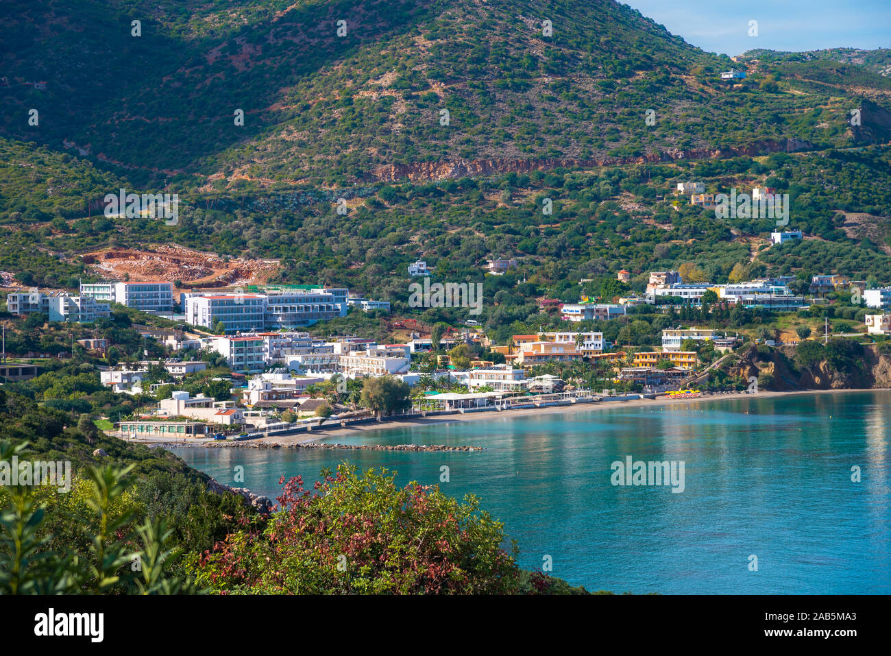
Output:
<instances>
[{"instance_id":1,"label":"upper shrub-covered mountain slope above the reddish road cut","mask_svg":"<svg viewBox=\"0 0 891 656\"><path fill-rule=\"evenodd\" d=\"M175 191L846 145L869 95L860 73L875 77L752 70L737 88L718 78L729 58L613 0L18 0L6 13L3 133Z\"/></svg>"}]
</instances>

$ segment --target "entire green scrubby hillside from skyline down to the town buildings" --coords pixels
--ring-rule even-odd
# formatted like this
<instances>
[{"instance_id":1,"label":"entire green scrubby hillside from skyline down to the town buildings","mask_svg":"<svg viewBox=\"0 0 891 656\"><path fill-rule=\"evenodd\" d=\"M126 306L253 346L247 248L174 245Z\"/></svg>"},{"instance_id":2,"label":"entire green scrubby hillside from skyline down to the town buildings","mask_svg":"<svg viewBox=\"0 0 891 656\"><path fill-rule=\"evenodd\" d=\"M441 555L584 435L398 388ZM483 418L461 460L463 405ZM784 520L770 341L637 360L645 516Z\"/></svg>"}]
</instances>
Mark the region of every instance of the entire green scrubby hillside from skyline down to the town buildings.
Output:
<instances>
[{"instance_id":1,"label":"entire green scrubby hillside from skyline down to the town buildings","mask_svg":"<svg viewBox=\"0 0 891 656\"><path fill-rule=\"evenodd\" d=\"M577 300L579 279L623 267L638 291L685 262L717 283L735 266L887 281L891 80L860 63L885 51L753 51L728 85L718 73L740 63L611 0L10 6L6 286L323 281L405 312L415 258L470 282L502 256L519 271L486 279L480 318L506 330L536 298ZM675 209L689 179L789 193L804 242L772 246L770 220ZM179 193L178 224L102 216L120 187Z\"/></svg>"}]
</instances>

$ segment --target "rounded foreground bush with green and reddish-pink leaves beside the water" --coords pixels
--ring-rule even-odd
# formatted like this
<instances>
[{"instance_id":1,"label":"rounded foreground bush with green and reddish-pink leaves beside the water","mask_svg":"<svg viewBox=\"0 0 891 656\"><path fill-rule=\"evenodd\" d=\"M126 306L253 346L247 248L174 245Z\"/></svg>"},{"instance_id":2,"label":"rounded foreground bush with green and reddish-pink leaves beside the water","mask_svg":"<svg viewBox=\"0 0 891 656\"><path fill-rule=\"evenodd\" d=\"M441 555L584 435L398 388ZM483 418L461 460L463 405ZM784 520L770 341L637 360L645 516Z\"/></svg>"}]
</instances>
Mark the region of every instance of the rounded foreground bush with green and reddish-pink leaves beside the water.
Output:
<instances>
[{"instance_id":1,"label":"rounded foreground bush with green and reddish-pink leaves beside the water","mask_svg":"<svg viewBox=\"0 0 891 656\"><path fill-rule=\"evenodd\" d=\"M314 493L297 477L266 529L230 535L189 569L237 594L503 594L519 569L503 550L503 524L436 487L397 488L386 470L323 471ZM282 482L284 478L282 477Z\"/></svg>"}]
</instances>

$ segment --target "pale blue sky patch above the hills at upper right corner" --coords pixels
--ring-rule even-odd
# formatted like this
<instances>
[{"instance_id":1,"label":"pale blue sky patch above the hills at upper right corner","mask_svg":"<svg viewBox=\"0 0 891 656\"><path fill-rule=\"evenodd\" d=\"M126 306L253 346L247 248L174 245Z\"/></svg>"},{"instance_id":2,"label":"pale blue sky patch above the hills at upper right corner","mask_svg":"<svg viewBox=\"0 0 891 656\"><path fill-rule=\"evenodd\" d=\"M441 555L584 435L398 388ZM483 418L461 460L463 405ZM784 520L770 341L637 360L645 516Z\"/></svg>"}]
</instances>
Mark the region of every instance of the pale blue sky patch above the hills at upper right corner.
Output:
<instances>
[{"instance_id":1,"label":"pale blue sky patch above the hills at upper right corner","mask_svg":"<svg viewBox=\"0 0 891 656\"><path fill-rule=\"evenodd\" d=\"M709 53L891 47L891 0L619 0ZM758 21L758 36L748 36Z\"/></svg>"}]
</instances>

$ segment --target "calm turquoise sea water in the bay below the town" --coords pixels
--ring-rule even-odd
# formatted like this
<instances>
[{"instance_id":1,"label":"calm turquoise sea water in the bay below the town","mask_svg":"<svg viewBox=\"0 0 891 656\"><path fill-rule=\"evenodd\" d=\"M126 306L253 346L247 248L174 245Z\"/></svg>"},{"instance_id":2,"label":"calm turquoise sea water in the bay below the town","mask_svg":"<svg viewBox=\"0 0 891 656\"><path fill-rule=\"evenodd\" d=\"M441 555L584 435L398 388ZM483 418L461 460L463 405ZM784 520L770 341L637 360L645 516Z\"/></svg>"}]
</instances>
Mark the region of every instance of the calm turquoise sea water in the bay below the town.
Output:
<instances>
[{"instance_id":1,"label":"calm turquoise sea water in the bay below the town","mask_svg":"<svg viewBox=\"0 0 891 656\"><path fill-rule=\"evenodd\" d=\"M438 484L519 541L519 564L571 584L665 594L891 593L891 392L740 398L376 430L330 441L474 453L177 449L274 497L348 458ZM684 490L611 483L611 463L683 461ZM243 483L233 481L236 465ZM440 482L440 467L449 482ZM852 466L862 480L853 482ZM749 557L757 557L757 571Z\"/></svg>"}]
</instances>

